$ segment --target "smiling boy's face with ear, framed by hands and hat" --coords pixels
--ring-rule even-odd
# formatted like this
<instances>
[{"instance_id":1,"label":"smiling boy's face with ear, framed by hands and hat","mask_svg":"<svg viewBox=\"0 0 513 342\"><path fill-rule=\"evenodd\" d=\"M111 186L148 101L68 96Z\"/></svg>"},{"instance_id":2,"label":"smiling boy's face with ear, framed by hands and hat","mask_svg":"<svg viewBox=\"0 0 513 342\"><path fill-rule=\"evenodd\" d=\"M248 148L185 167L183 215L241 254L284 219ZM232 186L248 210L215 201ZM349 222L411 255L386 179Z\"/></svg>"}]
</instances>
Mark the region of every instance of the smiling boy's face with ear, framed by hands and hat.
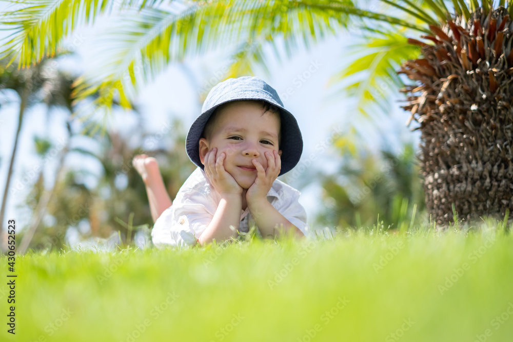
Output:
<instances>
[{"instance_id":1,"label":"smiling boy's face with ear, framed by hands and hat","mask_svg":"<svg viewBox=\"0 0 513 342\"><path fill-rule=\"evenodd\" d=\"M263 114L263 115L262 115ZM267 170L265 152L277 151L280 119L278 114L263 113L259 103L236 101L228 103L216 114L210 141L200 139L200 159L205 165L205 154L217 148L216 159L225 152L225 170L243 188L248 189L257 178L252 159ZM242 166L251 167L250 170Z\"/></svg>"}]
</instances>

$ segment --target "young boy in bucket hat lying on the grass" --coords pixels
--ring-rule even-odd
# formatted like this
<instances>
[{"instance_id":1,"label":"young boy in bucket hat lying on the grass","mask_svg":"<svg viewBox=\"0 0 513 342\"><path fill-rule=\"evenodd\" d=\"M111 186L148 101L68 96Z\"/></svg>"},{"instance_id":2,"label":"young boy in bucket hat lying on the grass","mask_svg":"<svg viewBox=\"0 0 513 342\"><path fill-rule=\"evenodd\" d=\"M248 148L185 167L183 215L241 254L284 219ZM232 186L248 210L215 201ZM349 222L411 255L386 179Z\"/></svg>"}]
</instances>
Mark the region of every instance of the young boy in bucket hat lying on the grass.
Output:
<instances>
[{"instance_id":1,"label":"young boy in bucket hat lying on the grass","mask_svg":"<svg viewBox=\"0 0 513 342\"><path fill-rule=\"evenodd\" d=\"M314 237L301 193L277 179L299 162L301 131L261 78L229 78L213 87L186 149L198 168L173 202L156 160L145 154L133 159L146 185L155 246L219 243L251 227L263 237Z\"/></svg>"}]
</instances>

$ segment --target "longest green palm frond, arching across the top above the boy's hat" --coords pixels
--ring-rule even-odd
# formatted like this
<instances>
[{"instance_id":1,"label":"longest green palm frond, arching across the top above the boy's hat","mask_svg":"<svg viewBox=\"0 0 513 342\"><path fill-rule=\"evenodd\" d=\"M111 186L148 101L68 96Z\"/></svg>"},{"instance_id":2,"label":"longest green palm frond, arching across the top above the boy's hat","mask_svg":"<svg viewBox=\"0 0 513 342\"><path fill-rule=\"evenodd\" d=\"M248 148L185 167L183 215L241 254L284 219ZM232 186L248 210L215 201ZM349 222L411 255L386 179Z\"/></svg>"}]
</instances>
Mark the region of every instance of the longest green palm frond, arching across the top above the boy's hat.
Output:
<instances>
[{"instance_id":1,"label":"longest green palm frond, arching across the top above the boy's hat","mask_svg":"<svg viewBox=\"0 0 513 342\"><path fill-rule=\"evenodd\" d=\"M103 48L96 53L94 66L75 83L77 100L100 94L79 114L89 115L86 112L109 107L114 99L129 108L140 87L169 63L181 61L187 54L204 53L219 46L226 48L240 42L241 37L244 41L263 40L273 44L272 37L283 35L290 57L298 38L303 38L308 46L310 41L334 32L333 23L327 20L329 9L309 9L308 2L301 4L219 1L202 6L194 4L184 10L171 3L167 10L127 13L104 34L99 42L103 43ZM344 22L339 17L341 23ZM265 65L261 47L254 47L235 58L230 75L251 72L251 59ZM247 58L249 60L244 61Z\"/></svg>"}]
</instances>

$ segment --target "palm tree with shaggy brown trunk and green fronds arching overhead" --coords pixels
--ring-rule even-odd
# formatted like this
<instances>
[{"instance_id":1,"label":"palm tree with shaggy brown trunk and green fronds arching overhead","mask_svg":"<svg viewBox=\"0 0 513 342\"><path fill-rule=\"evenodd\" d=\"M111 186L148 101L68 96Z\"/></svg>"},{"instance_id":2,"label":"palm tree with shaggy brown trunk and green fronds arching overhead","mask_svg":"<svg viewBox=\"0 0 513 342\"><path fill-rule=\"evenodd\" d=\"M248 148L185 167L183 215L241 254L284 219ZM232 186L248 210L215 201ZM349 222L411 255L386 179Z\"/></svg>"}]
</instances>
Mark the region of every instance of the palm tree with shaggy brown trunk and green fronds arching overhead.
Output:
<instances>
[{"instance_id":1,"label":"palm tree with shaggy brown trunk and green fronds arching overhead","mask_svg":"<svg viewBox=\"0 0 513 342\"><path fill-rule=\"evenodd\" d=\"M77 23L93 22L101 13L124 11L123 22L113 24L111 36L105 37L105 42L115 41L116 45L98 54L102 67L86 72L75 84L77 99L100 93L94 110L109 108L114 99L128 107L144 82L187 53L238 44L233 68L226 75L230 77L238 74L241 65L246 73L251 72L250 64L241 62L264 63L261 46L274 47L273 38L278 35L283 36L290 56L298 39L308 47L334 33L335 26L346 26L349 18L365 18L364 32L377 34L384 29L381 46L391 47L392 38L396 44L390 53L368 55L370 64L360 63L360 69L369 69L375 78L353 84L352 89L365 98L382 97L383 91L369 91L369 85L384 77L393 80L392 86L400 85L402 79L393 70L397 64L402 64L400 72L416 83L404 89L409 101L404 108L411 111L410 121L415 119L422 133L421 168L426 206L433 220L447 223L453 210L470 219L504 215L513 207L508 181L513 175L513 125L507 115L513 62L509 32L512 1L505 9L504 0L498 8L487 0L481 7L477 0L470 0L469 5L452 0L449 11L443 0L426 0L423 5L411 0L381 0L401 17L365 10L348 0L125 1L120 6L106 0L97 7L90 0L77 0L73 2L76 6L56 6L64 1L26 3L26 7L7 13L4 23L10 24L14 33L5 42L3 53L28 66L55 53ZM386 25L369 26L366 19ZM419 33L424 35L417 38L424 42L404 37Z\"/></svg>"}]
</instances>

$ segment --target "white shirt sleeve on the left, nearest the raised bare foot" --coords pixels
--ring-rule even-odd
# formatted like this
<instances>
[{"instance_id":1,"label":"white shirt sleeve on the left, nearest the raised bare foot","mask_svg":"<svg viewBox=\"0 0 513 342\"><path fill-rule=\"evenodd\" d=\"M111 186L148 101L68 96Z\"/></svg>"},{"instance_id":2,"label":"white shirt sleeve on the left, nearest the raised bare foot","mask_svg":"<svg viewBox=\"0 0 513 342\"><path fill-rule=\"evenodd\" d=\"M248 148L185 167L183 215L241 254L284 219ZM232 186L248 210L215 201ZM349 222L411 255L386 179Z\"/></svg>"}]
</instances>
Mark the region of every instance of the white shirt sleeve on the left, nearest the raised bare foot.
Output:
<instances>
[{"instance_id":1,"label":"white shirt sleeve on the left, nearest the raised bare foot","mask_svg":"<svg viewBox=\"0 0 513 342\"><path fill-rule=\"evenodd\" d=\"M155 236L152 234L153 244L156 247L163 247L164 244L180 247L194 246L212 221L215 208L213 199L207 198L202 193L189 193L180 200L175 200L171 211L166 213L166 210L157 218L153 226L153 230L156 230ZM169 235L163 235L159 233L160 231L169 232ZM164 238L158 239L160 236Z\"/></svg>"}]
</instances>

